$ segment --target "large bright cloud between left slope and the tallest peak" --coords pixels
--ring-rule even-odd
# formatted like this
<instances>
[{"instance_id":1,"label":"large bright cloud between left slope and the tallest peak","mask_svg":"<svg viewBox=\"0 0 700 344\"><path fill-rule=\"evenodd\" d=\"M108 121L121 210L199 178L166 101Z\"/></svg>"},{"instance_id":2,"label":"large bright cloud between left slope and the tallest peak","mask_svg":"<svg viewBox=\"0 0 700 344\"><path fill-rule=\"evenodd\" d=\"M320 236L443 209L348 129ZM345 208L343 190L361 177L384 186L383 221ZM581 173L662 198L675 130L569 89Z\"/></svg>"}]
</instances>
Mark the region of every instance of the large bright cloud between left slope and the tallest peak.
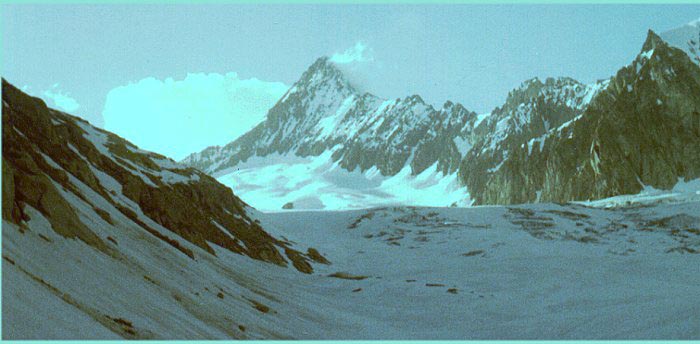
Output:
<instances>
[{"instance_id":1,"label":"large bright cloud between left slope and the tallest peak","mask_svg":"<svg viewBox=\"0 0 700 344\"><path fill-rule=\"evenodd\" d=\"M180 160L224 145L260 123L289 87L236 73L142 79L107 94L106 130L140 148Z\"/></svg>"}]
</instances>

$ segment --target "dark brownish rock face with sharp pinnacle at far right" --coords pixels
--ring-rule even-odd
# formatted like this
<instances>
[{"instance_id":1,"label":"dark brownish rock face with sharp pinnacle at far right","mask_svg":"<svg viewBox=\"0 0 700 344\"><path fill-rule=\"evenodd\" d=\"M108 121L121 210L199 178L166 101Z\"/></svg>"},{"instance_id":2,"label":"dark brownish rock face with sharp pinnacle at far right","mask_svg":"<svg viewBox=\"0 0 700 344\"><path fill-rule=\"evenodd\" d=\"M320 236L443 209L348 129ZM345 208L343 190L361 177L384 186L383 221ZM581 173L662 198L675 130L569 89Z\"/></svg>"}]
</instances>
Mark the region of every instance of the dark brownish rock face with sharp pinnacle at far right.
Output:
<instances>
[{"instance_id":1,"label":"dark brownish rock face with sharp pinnacle at far right","mask_svg":"<svg viewBox=\"0 0 700 344\"><path fill-rule=\"evenodd\" d=\"M476 202L598 199L698 178L700 70L649 32L635 61L540 147L515 140L493 173L474 167L478 156L465 159L460 173Z\"/></svg>"}]
</instances>

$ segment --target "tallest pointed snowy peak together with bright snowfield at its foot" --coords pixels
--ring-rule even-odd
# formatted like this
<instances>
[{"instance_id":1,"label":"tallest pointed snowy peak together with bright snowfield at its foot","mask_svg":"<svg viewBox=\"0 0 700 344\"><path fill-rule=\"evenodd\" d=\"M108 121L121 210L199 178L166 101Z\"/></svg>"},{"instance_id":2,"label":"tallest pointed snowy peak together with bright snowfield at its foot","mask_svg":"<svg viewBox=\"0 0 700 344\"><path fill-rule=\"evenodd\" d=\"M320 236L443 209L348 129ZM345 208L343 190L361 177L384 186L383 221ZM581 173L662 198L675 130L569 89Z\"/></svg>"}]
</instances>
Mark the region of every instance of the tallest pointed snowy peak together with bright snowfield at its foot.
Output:
<instances>
[{"instance_id":1,"label":"tallest pointed snowy peak together with bright snowfield at its foot","mask_svg":"<svg viewBox=\"0 0 700 344\"><path fill-rule=\"evenodd\" d=\"M406 183L420 185L403 190L404 196L419 190L427 196L437 188L452 195L442 205L464 203L468 199L457 185L456 170L478 120L460 104L434 109L417 95L386 100L360 93L323 57L263 123L183 163L247 196L257 193L253 199L263 209L280 209L287 202L307 208L400 203L394 185ZM292 190L298 196L290 195Z\"/></svg>"}]
</instances>

